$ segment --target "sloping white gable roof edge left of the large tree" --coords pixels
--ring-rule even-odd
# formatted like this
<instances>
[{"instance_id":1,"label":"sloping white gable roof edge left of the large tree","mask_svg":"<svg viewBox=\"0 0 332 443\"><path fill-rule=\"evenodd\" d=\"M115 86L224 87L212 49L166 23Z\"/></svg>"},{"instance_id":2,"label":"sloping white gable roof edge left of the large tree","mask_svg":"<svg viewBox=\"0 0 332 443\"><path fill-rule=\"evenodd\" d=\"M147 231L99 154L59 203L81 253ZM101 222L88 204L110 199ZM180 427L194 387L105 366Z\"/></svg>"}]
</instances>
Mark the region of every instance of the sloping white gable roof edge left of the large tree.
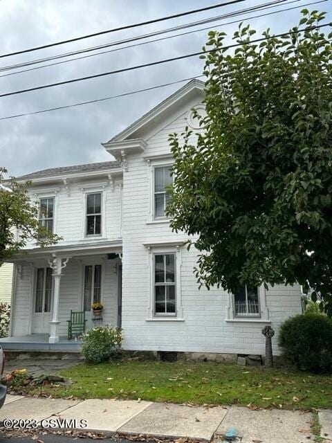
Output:
<instances>
[{"instance_id":1,"label":"sloping white gable roof edge left of the large tree","mask_svg":"<svg viewBox=\"0 0 332 443\"><path fill-rule=\"evenodd\" d=\"M192 93L193 91L200 91L203 93L204 91L204 82L201 80L190 80L185 86L178 89L171 96L165 98L162 102L160 102L156 107L150 109L149 112L144 114L142 117L138 118L135 122L131 123L126 129L113 136L111 140L107 143L113 143L117 141L123 141L126 138L129 138L132 134L134 134L138 129L141 129L143 126L147 125L152 119L156 118L161 112L168 109L170 106L174 105L175 102L187 96L187 94ZM106 145L107 143L102 143L102 145Z\"/></svg>"}]
</instances>

